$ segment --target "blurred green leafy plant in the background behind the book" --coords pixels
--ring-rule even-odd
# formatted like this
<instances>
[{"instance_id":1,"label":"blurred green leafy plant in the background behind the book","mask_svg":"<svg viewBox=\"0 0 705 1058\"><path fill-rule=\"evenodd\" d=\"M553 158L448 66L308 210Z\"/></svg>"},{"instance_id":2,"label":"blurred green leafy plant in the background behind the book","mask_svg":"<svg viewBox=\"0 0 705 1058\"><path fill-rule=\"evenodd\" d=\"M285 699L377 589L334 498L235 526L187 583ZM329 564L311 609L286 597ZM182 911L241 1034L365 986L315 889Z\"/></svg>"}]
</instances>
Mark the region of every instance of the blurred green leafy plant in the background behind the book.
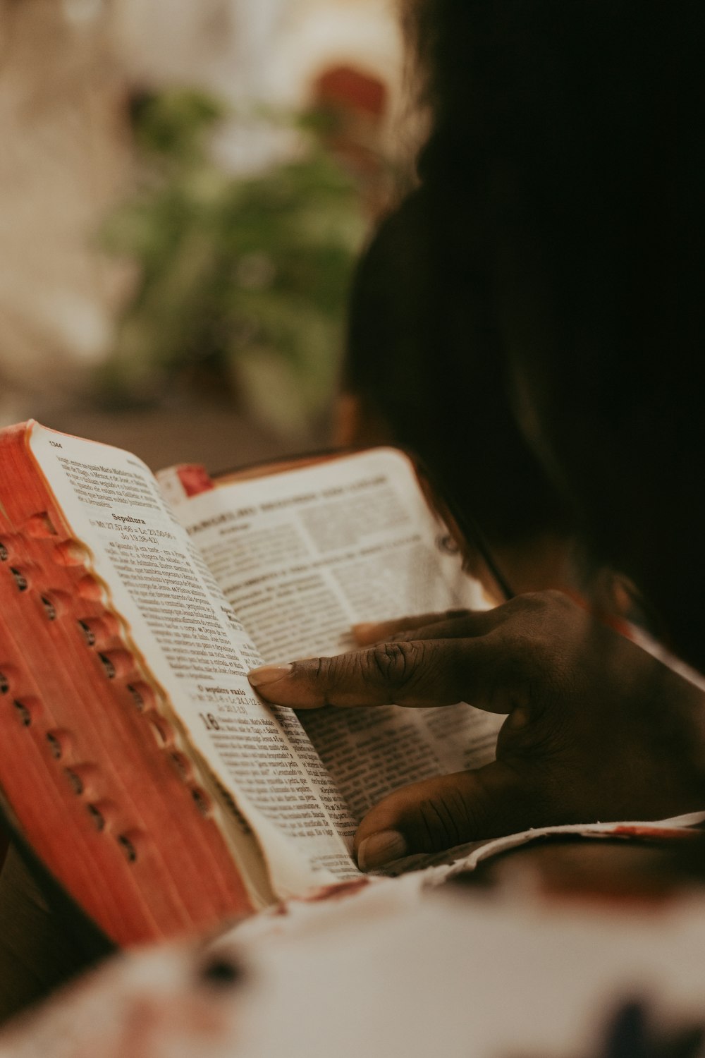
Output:
<instances>
[{"instance_id":1,"label":"blurred green leafy plant in the background behind the book","mask_svg":"<svg viewBox=\"0 0 705 1058\"><path fill-rule=\"evenodd\" d=\"M227 117L217 99L171 90L132 107L138 185L103 231L138 266L104 403L159 402L194 386L290 434L336 384L348 287L366 223L359 188L324 146L314 114L258 113L296 131L289 160L233 176L214 160Z\"/></svg>"}]
</instances>

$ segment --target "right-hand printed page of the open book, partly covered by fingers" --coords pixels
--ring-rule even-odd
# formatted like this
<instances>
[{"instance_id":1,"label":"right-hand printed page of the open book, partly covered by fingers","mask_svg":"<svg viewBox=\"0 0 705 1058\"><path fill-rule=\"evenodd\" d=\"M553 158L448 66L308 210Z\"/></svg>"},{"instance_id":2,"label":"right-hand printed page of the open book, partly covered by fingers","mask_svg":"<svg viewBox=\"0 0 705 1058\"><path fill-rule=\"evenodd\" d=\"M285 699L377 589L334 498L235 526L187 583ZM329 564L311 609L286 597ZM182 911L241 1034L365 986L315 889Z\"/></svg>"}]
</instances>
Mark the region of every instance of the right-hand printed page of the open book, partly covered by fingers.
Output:
<instances>
[{"instance_id":1,"label":"right-hand printed page of the open book, partly covered by fingers","mask_svg":"<svg viewBox=\"0 0 705 1058\"><path fill-rule=\"evenodd\" d=\"M351 650L357 621L486 607L393 449L169 495L266 661ZM299 719L359 820L398 786L488 763L503 717L459 704Z\"/></svg>"}]
</instances>

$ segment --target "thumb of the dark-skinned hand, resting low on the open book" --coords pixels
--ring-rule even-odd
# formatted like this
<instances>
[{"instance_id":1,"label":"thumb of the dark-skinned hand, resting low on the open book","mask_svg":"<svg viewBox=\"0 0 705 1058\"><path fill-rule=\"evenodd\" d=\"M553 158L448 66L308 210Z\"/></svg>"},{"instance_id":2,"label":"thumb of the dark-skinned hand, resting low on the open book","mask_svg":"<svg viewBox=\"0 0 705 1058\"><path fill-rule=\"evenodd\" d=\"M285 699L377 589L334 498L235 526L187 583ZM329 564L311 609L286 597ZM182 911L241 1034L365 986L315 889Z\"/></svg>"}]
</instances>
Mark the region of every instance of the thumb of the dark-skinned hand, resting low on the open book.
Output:
<instances>
[{"instance_id":1,"label":"thumb of the dark-skinned hand, resting low on the open book","mask_svg":"<svg viewBox=\"0 0 705 1058\"><path fill-rule=\"evenodd\" d=\"M523 763L495 761L403 786L359 824L354 852L360 870L542 825L544 798L532 772Z\"/></svg>"}]
</instances>

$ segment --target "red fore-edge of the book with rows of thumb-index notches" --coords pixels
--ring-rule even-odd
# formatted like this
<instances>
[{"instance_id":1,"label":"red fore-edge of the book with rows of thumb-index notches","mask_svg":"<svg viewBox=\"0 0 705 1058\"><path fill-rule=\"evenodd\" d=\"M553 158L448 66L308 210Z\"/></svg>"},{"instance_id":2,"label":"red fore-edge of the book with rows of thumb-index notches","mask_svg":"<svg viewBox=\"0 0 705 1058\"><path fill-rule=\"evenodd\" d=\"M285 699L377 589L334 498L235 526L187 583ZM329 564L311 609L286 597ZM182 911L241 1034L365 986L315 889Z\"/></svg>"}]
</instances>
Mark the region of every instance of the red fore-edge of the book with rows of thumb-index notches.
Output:
<instances>
[{"instance_id":1,"label":"red fore-edge of the book with rows of thumb-index notches","mask_svg":"<svg viewBox=\"0 0 705 1058\"><path fill-rule=\"evenodd\" d=\"M0 434L0 787L55 879L118 944L249 913L161 690L127 646L26 445Z\"/></svg>"}]
</instances>

